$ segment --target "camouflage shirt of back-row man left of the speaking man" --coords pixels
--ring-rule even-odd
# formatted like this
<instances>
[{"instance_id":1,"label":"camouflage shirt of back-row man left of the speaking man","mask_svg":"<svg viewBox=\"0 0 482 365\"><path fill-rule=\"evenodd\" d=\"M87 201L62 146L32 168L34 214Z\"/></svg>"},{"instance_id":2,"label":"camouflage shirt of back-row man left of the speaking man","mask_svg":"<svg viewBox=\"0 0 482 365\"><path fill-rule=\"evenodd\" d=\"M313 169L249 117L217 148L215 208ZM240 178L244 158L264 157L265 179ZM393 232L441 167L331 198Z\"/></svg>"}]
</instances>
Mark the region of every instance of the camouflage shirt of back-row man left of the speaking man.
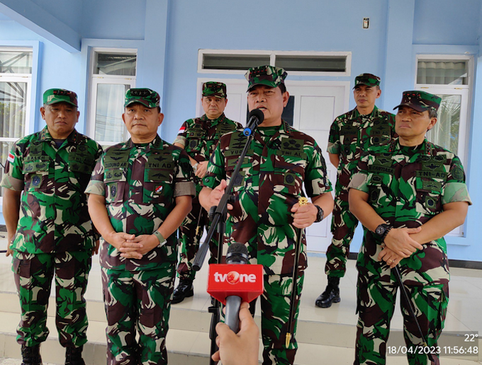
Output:
<instances>
[{"instance_id":1,"label":"camouflage shirt of back-row man left of the speaking man","mask_svg":"<svg viewBox=\"0 0 482 365\"><path fill-rule=\"evenodd\" d=\"M209 161L221 136L241 128L240 123L228 119L224 113L215 120L210 120L205 114L200 118L186 120L181 125L174 143L182 144L194 160ZM201 185L196 185L198 194L201 188Z\"/></svg>"}]
</instances>

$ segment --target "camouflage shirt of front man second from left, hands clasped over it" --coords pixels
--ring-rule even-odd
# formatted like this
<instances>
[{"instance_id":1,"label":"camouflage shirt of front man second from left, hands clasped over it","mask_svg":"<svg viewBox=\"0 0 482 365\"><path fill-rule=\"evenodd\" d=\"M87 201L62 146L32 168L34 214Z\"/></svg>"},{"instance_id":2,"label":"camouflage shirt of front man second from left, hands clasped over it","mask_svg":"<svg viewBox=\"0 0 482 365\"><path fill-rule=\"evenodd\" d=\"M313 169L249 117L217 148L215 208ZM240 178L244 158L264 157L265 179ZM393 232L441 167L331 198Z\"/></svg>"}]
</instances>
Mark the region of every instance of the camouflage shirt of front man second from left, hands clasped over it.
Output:
<instances>
[{"instance_id":1,"label":"camouflage shirt of front man second from left, hands clasped over it","mask_svg":"<svg viewBox=\"0 0 482 365\"><path fill-rule=\"evenodd\" d=\"M116 232L152 234L174 209L175 198L194 195L187 153L157 136L148 144L130 139L103 153L92 173L87 194L106 197L106 208ZM162 269L175 265L176 237L146 253L140 260L120 257L103 241L101 266L115 270Z\"/></svg>"}]
</instances>

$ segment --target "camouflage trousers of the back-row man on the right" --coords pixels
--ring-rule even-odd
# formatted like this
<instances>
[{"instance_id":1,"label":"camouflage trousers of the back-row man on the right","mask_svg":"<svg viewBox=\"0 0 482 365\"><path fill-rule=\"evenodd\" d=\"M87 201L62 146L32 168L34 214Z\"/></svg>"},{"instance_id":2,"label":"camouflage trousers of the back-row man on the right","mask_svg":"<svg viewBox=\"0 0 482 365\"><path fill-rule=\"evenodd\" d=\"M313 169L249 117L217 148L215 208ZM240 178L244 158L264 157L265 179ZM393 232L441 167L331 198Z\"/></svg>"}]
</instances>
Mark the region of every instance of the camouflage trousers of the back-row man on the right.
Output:
<instances>
[{"instance_id":1,"label":"camouflage trousers of the back-row man on the right","mask_svg":"<svg viewBox=\"0 0 482 365\"><path fill-rule=\"evenodd\" d=\"M344 277L347 272L349 245L357 226L358 219L349 211L348 190L337 186L331 226L333 238L326 251L325 273L329 277Z\"/></svg>"}]
</instances>

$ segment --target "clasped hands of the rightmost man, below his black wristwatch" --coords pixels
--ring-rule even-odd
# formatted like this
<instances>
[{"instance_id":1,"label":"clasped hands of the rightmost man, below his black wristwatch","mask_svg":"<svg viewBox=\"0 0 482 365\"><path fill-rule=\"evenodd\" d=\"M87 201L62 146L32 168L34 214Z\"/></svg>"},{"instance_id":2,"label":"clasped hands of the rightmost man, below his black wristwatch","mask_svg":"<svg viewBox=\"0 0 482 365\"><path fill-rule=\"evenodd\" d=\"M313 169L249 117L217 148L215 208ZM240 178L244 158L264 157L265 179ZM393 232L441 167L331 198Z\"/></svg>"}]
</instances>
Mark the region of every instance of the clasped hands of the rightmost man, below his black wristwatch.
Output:
<instances>
[{"instance_id":1,"label":"clasped hands of the rightmost man, below his black wristwatch","mask_svg":"<svg viewBox=\"0 0 482 365\"><path fill-rule=\"evenodd\" d=\"M383 241L379 260L385 261L390 268L393 268L405 257L410 257L415 251L422 250L423 246L410 237L421 230L422 227L392 228Z\"/></svg>"}]
</instances>

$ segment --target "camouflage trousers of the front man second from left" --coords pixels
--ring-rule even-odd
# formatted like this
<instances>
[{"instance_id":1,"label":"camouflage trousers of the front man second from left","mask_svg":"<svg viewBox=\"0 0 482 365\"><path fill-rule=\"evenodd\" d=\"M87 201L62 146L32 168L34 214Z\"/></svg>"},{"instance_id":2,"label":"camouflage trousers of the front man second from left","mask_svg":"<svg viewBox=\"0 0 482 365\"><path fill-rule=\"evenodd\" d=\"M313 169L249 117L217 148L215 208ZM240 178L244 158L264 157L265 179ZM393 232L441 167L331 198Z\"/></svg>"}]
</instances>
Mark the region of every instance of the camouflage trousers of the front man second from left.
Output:
<instances>
[{"instance_id":1,"label":"camouflage trousers of the front man second from left","mask_svg":"<svg viewBox=\"0 0 482 365\"><path fill-rule=\"evenodd\" d=\"M174 266L133 272L102 268L108 365L167 364L174 273Z\"/></svg>"}]
</instances>

